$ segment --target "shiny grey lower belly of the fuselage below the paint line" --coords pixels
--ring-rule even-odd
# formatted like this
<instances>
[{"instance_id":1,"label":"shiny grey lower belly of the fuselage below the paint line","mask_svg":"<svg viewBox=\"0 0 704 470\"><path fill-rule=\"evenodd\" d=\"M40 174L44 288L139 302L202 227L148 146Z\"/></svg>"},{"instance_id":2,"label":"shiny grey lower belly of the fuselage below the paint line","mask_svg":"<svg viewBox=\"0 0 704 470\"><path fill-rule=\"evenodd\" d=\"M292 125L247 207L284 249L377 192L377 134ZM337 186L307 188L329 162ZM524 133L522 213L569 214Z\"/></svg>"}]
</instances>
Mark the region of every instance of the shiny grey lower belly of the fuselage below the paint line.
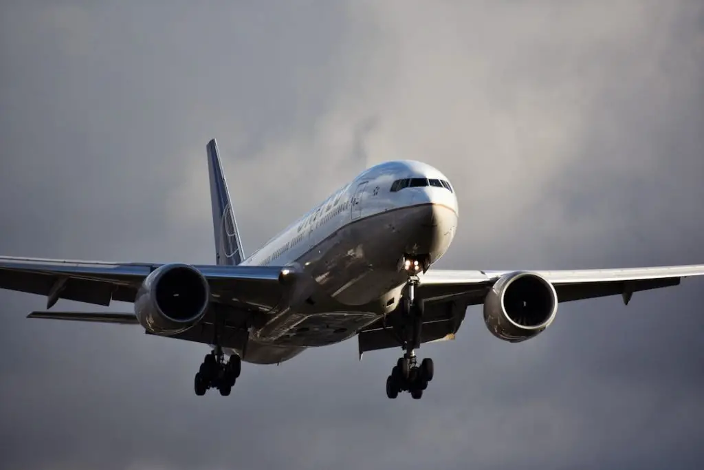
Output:
<instances>
[{"instance_id":1,"label":"shiny grey lower belly of the fuselage below the paint line","mask_svg":"<svg viewBox=\"0 0 704 470\"><path fill-rule=\"evenodd\" d=\"M313 290L253 332L244 361L277 364L308 347L347 340L398 308L409 273L403 259L427 259L448 249L455 210L432 202L358 218L303 254L298 264Z\"/></svg>"}]
</instances>

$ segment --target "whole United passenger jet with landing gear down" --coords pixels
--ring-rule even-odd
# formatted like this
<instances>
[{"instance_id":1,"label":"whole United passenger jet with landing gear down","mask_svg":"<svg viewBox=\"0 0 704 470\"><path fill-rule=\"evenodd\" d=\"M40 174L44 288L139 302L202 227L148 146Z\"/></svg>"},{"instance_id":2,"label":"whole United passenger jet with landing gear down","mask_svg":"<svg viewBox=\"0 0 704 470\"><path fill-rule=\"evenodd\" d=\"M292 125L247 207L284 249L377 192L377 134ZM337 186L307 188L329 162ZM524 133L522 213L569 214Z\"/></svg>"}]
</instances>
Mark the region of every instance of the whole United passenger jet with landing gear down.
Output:
<instances>
[{"instance_id":1,"label":"whole United passenger jet with landing gear down","mask_svg":"<svg viewBox=\"0 0 704 470\"><path fill-rule=\"evenodd\" d=\"M206 145L215 264L112 263L0 256L0 288L44 295L33 319L139 325L146 334L210 346L196 395L230 395L242 361L281 364L312 347L357 337L364 352L400 347L386 396L418 400L434 363L415 350L455 338L471 305L506 342L534 338L560 302L679 285L704 265L575 271L446 270L432 266L458 226L455 187L419 161L367 168L263 247L245 256L215 139ZM125 314L49 311L59 299ZM228 357L226 360L225 357Z\"/></svg>"}]
</instances>

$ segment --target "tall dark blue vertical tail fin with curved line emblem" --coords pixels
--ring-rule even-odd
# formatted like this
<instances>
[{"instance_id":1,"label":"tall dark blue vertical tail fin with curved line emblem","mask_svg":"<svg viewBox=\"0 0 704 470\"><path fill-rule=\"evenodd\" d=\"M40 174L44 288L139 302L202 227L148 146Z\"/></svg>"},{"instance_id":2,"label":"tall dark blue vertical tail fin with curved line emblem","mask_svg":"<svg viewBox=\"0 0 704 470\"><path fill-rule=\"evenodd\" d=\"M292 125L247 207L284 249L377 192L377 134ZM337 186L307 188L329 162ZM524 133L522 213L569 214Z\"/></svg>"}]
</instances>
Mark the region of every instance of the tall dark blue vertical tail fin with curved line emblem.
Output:
<instances>
[{"instance_id":1,"label":"tall dark blue vertical tail fin with curved line emblem","mask_svg":"<svg viewBox=\"0 0 704 470\"><path fill-rule=\"evenodd\" d=\"M242 243L234 220L234 211L227 191L225 173L218 154L218 142L210 140L208 149L208 176L210 177L210 204L213 206L215 258L218 265L236 265L244 259Z\"/></svg>"}]
</instances>

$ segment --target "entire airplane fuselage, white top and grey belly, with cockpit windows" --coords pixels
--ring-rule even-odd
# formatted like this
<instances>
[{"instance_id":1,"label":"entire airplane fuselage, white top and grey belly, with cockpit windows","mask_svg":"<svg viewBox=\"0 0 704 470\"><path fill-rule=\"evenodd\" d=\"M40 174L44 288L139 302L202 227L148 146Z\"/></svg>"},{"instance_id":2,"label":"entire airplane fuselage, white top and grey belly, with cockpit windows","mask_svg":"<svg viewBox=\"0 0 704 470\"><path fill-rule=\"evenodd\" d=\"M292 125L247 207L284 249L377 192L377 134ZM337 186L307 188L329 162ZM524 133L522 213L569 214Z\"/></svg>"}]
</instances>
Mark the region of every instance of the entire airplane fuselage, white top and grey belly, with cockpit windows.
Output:
<instances>
[{"instance_id":1,"label":"entire airplane fuselage, white top and grey belly, with cockpit windows","mask_svg":"<svg viewBox=\"0 0 704 470\"><path fill-rule=\"evenodd\" d=\"M432 166L391 161L360 173L242 262L296 264L315 280L306 299L253 333L258 347L248 347L245 360L286 360L305 347L350 338L393 311L408 278L401 260L437 261L457 222L454 189Z\"/></svg>"}]
</instances>

